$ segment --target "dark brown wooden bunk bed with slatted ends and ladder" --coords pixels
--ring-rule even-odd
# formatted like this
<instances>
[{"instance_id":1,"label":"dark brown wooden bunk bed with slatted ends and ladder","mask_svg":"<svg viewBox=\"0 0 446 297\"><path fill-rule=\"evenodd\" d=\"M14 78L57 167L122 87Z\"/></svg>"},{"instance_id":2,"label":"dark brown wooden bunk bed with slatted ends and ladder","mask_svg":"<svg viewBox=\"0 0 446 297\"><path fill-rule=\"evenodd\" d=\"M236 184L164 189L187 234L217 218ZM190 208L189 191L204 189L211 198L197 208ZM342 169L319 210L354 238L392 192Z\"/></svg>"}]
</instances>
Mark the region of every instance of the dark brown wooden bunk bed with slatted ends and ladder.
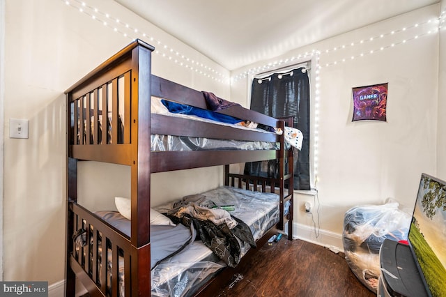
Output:
<instances>
[{"instance_id":1,"label":"dark brown wooden bunk bed with slatted ends and ladder","mask_svg":"<svg viewBox=\"0 0 446 297\"><path fill-rule=\"evenodd\" d=\"M274 206L277 215L270 215L274 219L254 236L257 248L278 232L288 234L288 238L292 239L293 190L288 189L293 188L293 152L286 145L285 133L281 135L277 132L284 131L286 121L253 112L240 105L220 109L218 113L259 123L276 132L151 112L151 109L155 109L152 106L155 98L203 110L210 109L202 92L151 74L153 50L151 45L134 40L66 91L66 296L75 296L76 278L91 296L150 296L160 293L160 290L153 289L153 279L157 275L151 272L151 260L154 257L151 255L151 246L155 247L157 242L151 242L151 238L154 238L151 232L154 231L149 214L156 207L158 214L167 215L169 211L165 205L151 206L151 174L157 172L222 165L223 191L240 192L242 197L248 197L249 192L254 193L254 196L264 193L277 197ZM154 147L153 144L158 143L157 139L164 136L166 139L192 137L221 140L223 144L222 148L178 148L176 145L174 148ZM227 142L247 143L248 146L228 148L225 144ZM258 142L275 145L267 148L249 145ZM231 164L259 160L277 160L278 175L266 178L230 172ZM124 218L127 220L126 230L109 220L110 216L118 216L119 220L123 220L121 213L93 212L77 203L78 162L83 161L130 167L130 220ZM215 193L210 191L209 195L212 197ZM248 201L244 207L255 204L258 203ZM269 211L274 209L268 208L266 213ZM243 213L238 215L243 216ZM187 249L172 254L158 265L174 263L182 253L187 259L192 259L197 254L194 250L203 251L201 245L199 241L194 241ZM215 266L180 296L212 295L228 284L234 273L247 263L255 251L256 248L247 247L234 267L222 264L220 259L210 260L213 254L205 253L200 256L201 263L212 262Z\"/></svg>"}]
</instances>

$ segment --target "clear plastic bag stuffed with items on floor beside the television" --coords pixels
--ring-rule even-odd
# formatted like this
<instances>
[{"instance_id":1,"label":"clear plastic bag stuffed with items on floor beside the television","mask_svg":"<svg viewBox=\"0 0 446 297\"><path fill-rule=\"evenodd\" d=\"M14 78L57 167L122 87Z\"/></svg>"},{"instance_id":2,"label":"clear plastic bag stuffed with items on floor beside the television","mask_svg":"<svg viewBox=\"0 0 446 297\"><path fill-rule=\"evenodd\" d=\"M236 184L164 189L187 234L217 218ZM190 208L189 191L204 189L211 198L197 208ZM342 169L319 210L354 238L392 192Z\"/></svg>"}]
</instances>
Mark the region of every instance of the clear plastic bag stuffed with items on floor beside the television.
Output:
<instances>
[{"instance_id":1,"label":"clear plastic bag stuffed with items on floor beside the television","mask_svg":"<svg viewBox=\"0 0 446 297\"><path fill-rule=\"evenodd\" d=\"M399 209L397 202L356 206L344 215L344 253L351 271L376 293L380 276L379 250L385 238L405 241L411 214Z\"/></svg>"}]
</instances>

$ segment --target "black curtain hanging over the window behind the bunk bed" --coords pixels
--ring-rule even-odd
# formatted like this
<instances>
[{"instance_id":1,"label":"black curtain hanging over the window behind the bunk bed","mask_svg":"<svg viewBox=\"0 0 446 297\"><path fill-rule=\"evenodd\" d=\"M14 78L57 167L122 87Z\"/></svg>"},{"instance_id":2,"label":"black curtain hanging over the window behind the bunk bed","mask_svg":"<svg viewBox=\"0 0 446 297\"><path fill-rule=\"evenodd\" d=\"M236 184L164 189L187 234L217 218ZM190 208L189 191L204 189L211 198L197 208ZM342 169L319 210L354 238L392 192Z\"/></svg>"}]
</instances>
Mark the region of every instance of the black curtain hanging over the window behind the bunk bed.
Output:
<instances>
[{"instance_id":1,"label":"black curtain hanging over the window behind the bunk bed","mask_svg":"<svg viewBox=\"0 0 446 297\"><path fill-rule=\"evenodd\" d=\"M294 189L310 190L309 178L309 79L303 68L289 73L275 73L252 81L251 109L274 118L294 117L294 128L304 137L302 149L294 148ZM259 83L261 82L261 83ZM245 174L275 177L276 160L250 162Z\"/></svg>"}]
</instances>

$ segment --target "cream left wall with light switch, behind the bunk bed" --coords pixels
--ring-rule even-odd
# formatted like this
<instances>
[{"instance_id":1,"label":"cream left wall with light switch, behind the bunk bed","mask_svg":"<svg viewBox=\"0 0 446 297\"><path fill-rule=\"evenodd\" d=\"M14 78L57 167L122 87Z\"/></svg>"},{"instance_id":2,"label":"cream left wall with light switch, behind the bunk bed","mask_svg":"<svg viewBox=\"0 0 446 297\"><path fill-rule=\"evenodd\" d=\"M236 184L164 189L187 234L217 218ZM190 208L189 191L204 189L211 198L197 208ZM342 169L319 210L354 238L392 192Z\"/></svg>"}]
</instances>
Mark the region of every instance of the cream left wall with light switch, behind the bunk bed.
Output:
<instances>
[{"instance_id":1,"label":"cream left wall with light switch, behind the bunk bed","mask_svg":"<svg viewBox=\"0 0 446 297\"><path fill-rule=\"evenodd\" d=\"M63 91L128 45L131 38L125 37L124 32L144 39L141 36L144 30L155 38L153 45L159 51L153 54L155 75L229 98L229 83L200 73L208 73L211 68L220 77L229 77L229 71L114 1L88 1L89 6L99 10L95 20L88 6L81 13L73 7L80 6L80 1L70 0L70 3L73 4L54 0L5 1L4 280L44 280L55 284L64 278L66 102ZM105 13L139 28L138 33L125 26L118 27L122 33L114 32L116 24L112 24L111 18L107 20ZM101 17L107 25L98 20ZM153 43L148 38L146 41ZM164 45L168 45L167 49ZM186 59L194 60L194 65ZM9 138L10 118L29 119L29 139ZM220 169L196 169L193 176L198 180L214 176L214 182L206 185L213 187L222 181ZM119 185L121 174L125 170L118 170L112 182ZM166 181L165 176L170 179ZM160 199L191 194L197 190L197 179L187 182L187 177L184 172L155 175L157 183L153 191L160 192ZM172 187L169 181L179 181L184 187ZM168 191L161 192L165 185ZM116 192L109 195L112 204Z\"/></svg>"}]
</instances>

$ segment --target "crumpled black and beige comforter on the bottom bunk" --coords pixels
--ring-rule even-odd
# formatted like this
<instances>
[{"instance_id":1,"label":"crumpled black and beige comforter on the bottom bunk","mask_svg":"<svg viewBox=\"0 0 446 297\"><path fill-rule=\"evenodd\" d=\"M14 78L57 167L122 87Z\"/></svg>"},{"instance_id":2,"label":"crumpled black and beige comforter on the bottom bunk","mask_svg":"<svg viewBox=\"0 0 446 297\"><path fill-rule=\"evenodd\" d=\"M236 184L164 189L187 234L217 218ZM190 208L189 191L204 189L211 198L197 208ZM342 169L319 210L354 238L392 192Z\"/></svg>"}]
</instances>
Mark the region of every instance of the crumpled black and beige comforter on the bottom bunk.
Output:
<instances>
[{"instance_id":1,"label":"crumpled black and beige comforter on the bottom bunk","mask_svg":"<svg viewBox=\"0 0 446 297\"><path fill-rule=\"evenodd\" d=\"M183 201L183 205L169 212L168 216L176 224L193 227L197 234L196 240L201 239L204 245L230 267L236 267L240 262L244 243L256 248L247 224L223 209L211 209Z\"/></svg>"}]
</instances>

